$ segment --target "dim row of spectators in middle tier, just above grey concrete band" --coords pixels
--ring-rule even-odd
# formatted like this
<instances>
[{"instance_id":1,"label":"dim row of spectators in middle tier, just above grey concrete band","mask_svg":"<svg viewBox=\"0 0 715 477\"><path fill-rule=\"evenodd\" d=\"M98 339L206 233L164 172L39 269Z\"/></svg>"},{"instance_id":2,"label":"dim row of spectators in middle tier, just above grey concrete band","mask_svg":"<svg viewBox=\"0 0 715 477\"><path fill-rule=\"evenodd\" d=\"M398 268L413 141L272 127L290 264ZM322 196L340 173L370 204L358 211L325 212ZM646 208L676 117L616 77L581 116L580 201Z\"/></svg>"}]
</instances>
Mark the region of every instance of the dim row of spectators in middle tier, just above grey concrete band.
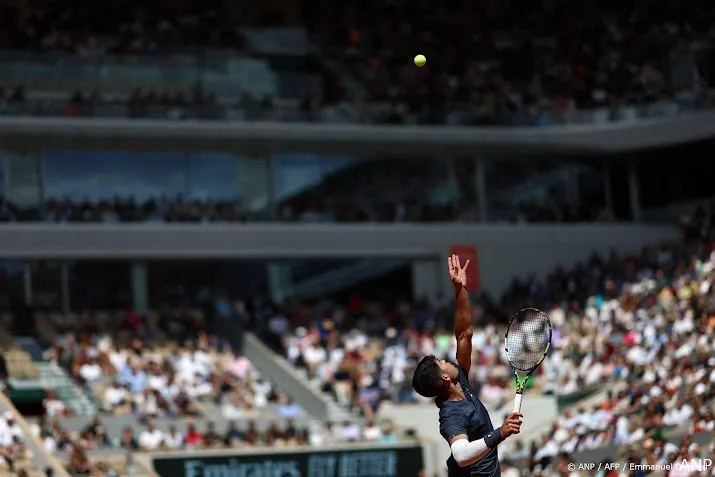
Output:
<instances>
[{"instance_id":1,"label":"dim row of spectators in middle tier, just above grey concrete band","mask_svg":"<svg viewBox=\"0 0 715 477\"><path fill-rule=\"evenodd\" d=\"M277 204L276 213L251 211L241 200L167 200L149 199L138 203L133 199L105 199L84 202L50 199L43 213L22 214L19 207L0 197L4 204L6 222L44 221L53 223L227 223L254 221L282 222L462 222L476 221L473 204L457 205L453 197L444 199L440 194L456 196L457 191L447 190L444 180L438 179L429 168L415 172L410 179L399 182L410 186L384 192L390 187L388 168L394 162L367 163L364 167L347 168L326 177L324 184L286 197ZM395 172L396 173L396 172ZM360 174L365 184L350 195L351 181ZM394 177L394 175L393 175ZM392 183L395 181L393 180ZM371 185L367 185L370 183ZM428 190L433 198L424 197ZM536 203L524 201L508 210L500 210L497 218L520 222L587 222L608 221L599 208L588 209L577 204Z\"/></svg>"}]
</instances>

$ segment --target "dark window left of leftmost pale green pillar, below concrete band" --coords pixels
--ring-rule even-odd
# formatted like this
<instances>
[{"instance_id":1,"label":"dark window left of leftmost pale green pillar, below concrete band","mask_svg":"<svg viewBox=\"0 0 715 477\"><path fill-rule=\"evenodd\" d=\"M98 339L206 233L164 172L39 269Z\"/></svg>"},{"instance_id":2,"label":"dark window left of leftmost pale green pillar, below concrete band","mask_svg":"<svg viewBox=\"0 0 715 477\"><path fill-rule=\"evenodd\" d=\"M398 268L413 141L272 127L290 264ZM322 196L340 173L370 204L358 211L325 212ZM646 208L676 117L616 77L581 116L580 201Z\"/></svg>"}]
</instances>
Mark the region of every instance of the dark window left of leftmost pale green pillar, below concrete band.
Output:
<instances>
[{"instance_id":1,"label":"dark window left of leftmost pale green pillar, below concrete band","mask_svg":"<svg viewBox=\"0 0 715 477\"><path fill-rule=\"evenodd\" d=\"M70 308L126 309L132 306L131 263L126 261L75 262L69 266Z\"/></svg>"}]
</instances>

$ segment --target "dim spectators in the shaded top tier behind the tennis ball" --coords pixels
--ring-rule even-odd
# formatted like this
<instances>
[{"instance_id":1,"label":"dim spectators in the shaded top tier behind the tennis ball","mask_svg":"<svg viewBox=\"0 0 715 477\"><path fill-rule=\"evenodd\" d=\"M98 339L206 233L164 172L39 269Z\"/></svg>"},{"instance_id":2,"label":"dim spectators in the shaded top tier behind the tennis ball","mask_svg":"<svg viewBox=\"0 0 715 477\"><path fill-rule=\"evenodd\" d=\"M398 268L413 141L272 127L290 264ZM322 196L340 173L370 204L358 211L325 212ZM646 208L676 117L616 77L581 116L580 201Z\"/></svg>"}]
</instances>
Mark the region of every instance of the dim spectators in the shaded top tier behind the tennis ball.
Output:
<instances>
[{"instance_id":1,"label":"dim spectators in the shaded top tier behind the tennis ball","mask_svg":"<svg viewBox=\"0 0 715 477\"><path fill-rule=\"evenodd\" d=\"M712 58L690 50L694 43L710 41L704 19L712 17L712 6L703 1L452 2L429 8L404 0L296 1L255 5L240 14L230 2L131 5L66 9L47 1L32 7L13 2L3 7L0 47L89 59L207 48L235 55L245 52L240 27L303 25L361 84L338 89L347 97L358 96L351 96L351 89L366 90L365 106L345 104L345 94L334 94L334 88L323 96L352 110L350 117L390 123L547 125L578 120L583 109L609 109L618 117L628 110L624 106L654 102L669 103L677 112L677 103L702 102L712 79ZM86 18L93 18L92 26ZM212 28L205 27L207 22ZM426 68L410 64L415 48L427 55ZM202 99L189 93L146 92L122 103L130 116L160 111L173 119L231 117L210 92ZM266 101L261 109L273 109L271 99ZM101 92L78 92L64 114L94 115L90 106L102 102ZM324 118L308 114L312 102L306 100L302 119Z\"/></svg>"}]
</instances>

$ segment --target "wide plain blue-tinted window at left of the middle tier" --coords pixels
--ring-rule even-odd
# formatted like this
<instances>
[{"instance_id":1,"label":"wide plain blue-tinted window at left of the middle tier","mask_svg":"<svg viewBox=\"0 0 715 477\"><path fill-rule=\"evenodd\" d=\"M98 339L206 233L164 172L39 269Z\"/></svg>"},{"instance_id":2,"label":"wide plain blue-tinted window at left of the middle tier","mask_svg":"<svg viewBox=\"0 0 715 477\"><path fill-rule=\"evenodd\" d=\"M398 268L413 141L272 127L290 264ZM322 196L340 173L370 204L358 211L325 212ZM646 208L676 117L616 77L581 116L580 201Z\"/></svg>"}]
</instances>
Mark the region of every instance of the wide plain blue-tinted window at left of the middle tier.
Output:
<instances>
[{"instance_id":1,"label":"wide plain blue-tinted window at left of the middle tier","mask_svg":"<svg viewBox=\"0 0 715 477\"><path fill-rule=\"evenodd\" d=\"M48 198L232 200L238 195L236 157L230 154L48 152L45 178Z\"/></svg>"}]
</instances>

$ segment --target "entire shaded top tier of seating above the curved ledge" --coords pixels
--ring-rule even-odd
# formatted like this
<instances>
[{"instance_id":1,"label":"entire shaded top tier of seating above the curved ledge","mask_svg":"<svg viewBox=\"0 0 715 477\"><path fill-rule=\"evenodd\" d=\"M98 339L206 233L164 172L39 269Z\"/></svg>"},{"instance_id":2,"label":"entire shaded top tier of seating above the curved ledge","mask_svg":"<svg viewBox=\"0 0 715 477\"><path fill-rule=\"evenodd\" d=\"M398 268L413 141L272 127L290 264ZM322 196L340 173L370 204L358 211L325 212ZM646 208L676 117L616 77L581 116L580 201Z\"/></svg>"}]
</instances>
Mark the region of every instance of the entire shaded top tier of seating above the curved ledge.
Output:
<instances>
[{"instance_id":1,"label":"entire shaded top tier of seating above the curved ledge","mask_svg":"<svg viewBox=\"0 0 715 477\"><path fill-rule=\"evenodd\" d=\"M96 12L105 18L97 22L106 25L101 34L80 22L82 14L63 25L37 19L51 28L42 38L12 19L56 16L54 3L41 2L42 8L29 12L7 7L0 45L11 50L22 44L32 52L0 54L0 82L8 88L25 83L45 93L34 99L28 95L24 104L8 101L8 111L543 126L675 114L709 101L703 86L710 80L704 75L711 58L701 53L708 51L708 27L689 20L711 14L712 7L703 2L666 6L650 0L636 11L602 0L578 6L554 2L558 7L461 3L429 14L405 1L303 3L291 2L292 13L282 13L281 20L270 11L238 15L230 2L211 7L188 2L173 11L107 7ZM594 15L596 10L601 14ZM571 21L563 22L563 16ZM209 32L196 25L198 18L214 23L220 18L221 24ZM285 24L284 18L292 20ZM135 28L141 25L142 34L117 30L132 22ZM149 26L155 24L162 27ZM254 25L280 28L249 28ZM71 34L72 28L86 33ZM177 38L183 51L172 44ZM574 38L581 48L559 48L575 44ZM298 45L303 45L304 59L295 61ZM411 64L417 50L427 55L426 68ZM318 58L312 58L316 51ZM264 57L269 52L277 60L236 58L247 52ZM289 67L285 74L274 71L291 64L308 66ZM137 82L147 91L132 96ZM276 86L270 92L247 88L268 84ZM193 94L196 85L205 94ZM61 94L53 95L52 87ZM255 98L241 98L246 93ZM298 103L284 111L261 95L291 95ZM644 107L653 103L657 107Z\"/></svg>"}]
</instances>

